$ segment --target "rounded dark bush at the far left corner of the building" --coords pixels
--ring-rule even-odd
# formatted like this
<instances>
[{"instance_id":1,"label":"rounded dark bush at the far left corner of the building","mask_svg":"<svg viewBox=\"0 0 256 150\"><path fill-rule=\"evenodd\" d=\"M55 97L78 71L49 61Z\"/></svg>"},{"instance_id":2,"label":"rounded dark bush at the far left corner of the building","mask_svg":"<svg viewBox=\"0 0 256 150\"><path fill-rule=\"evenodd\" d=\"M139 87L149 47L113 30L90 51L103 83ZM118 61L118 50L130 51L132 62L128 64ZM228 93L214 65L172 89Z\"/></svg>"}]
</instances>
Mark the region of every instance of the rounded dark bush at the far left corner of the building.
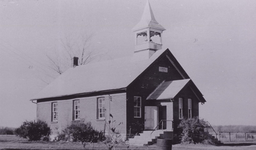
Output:
<instances>
[{"instance_id":1,"label":"rounded dark bush at the far left corner of the building","mask_svg":"<svg viewBox=\"0 0 256 150\"><path fill-rule=\"evenodd\" d=\"M15 135L29 141L46 140L50 138L51 129L45 121L24 121L21 127L15 129Z\"/></svg>"}]
</instances>

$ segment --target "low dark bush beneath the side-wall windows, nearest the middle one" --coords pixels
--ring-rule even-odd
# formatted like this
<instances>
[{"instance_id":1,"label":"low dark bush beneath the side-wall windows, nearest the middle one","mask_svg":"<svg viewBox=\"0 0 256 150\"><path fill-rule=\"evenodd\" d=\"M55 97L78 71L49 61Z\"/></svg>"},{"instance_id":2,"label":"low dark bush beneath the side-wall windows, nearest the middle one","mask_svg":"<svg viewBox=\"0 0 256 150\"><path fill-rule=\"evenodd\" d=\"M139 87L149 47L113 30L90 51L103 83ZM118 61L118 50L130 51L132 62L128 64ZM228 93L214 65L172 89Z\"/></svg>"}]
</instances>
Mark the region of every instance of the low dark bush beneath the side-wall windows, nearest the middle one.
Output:
<instances>
[{"instance_id":1,"label":"low dark bush beneath the side-wall windows, nearest the middle one","mask_svg":"<svg viewBox=\"0 0 256 150\"><path fill-rule=\"evenodd\" d=\"M91 123L74 123L67 126L59 135L61 140L81 141L82 143L90 142L97 143L105 140L105 135L102 131L96 131L91 127ZM64 136L65 135L65 136Z\"/></svg>"}]
</instances>

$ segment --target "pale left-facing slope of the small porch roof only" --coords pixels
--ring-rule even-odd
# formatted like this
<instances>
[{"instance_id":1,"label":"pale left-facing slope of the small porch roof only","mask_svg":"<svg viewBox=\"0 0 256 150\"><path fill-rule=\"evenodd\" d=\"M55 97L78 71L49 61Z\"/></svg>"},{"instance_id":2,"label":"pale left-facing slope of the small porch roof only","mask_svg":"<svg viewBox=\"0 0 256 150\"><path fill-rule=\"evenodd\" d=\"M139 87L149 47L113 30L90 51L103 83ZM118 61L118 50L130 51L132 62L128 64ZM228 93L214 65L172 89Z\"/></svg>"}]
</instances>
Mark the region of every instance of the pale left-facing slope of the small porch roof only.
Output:
<instances>
[{"instance_id":1,"label":"pale left-facing slope of the small porch roof only","mask_svg":"<svg viewBox=\"0 0 256 150\"><path fill-rule=\"evenodd\" d=\"M147 100L173 99L189 81L190 79L163 82L147 97Z\"/></svg>"}]
</instances>

